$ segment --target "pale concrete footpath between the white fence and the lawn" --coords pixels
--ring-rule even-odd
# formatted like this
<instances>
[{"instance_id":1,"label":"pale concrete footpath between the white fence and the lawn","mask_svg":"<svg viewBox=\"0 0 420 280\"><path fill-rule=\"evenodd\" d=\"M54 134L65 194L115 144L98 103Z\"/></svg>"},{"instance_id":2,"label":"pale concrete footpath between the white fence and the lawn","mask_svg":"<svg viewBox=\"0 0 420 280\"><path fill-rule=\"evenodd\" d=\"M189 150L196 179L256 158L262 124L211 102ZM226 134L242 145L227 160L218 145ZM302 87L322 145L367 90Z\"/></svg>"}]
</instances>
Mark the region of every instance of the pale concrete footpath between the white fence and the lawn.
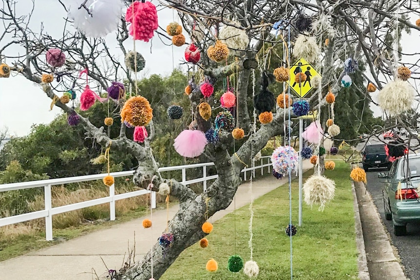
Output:
<instances>
[{"instance_id":1,"label":"pale concrete footpath between the white fence and the lawn","mask_svg":"<svg viewBox=\"0 0 420 280\"><path fill-rule=\"evenodd\" d=\"M309 161L304 161L304 170L312 168ZM259 170L256 170L258 172ZM273 176L255 180L252 185L254 198L287 184L288 180L277 180ZM236 208L249 203L249 183L239 186L236 195ZM178 205L169 209L169 218L177 212ZM217 212L211 221L215 222L234 210L233 203L225 210ZM158 239L166 226L166 209L153 211L153 231L144 229L143 219L116 224L87 235L63 242L27 255L0 262L0 279L31 280L92 280L95 269L99 277L105 276L107 269L119 270L127 259L129 250L134 245L135 260L140 260ZM147 218L150 218L148 216Z\"/></svg>"}]
</instances>

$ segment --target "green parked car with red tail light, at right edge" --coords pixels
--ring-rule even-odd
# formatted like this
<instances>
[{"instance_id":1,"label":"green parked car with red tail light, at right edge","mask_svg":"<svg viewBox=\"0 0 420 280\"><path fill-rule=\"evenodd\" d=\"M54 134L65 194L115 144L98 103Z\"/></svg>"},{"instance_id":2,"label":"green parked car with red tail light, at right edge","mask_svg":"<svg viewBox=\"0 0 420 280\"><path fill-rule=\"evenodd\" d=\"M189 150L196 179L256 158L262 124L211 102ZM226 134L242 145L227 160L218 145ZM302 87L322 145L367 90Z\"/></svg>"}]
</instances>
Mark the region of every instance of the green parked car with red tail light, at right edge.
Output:
<instances>
[{"instance_id":1,"label":"green parked car with red tail light, at right edge","mask_svg":"<svg viewBox=\"0 0 420 280\"><path fill-rule=\"evenodd\" d=\"M420 154L409 154L408 160L397 159L388 175L380 172L378 178L385 183L382 188L385 219L392 220L396 236L405 235L407 223L420 222Z\"/></svg>"}]
</instances>

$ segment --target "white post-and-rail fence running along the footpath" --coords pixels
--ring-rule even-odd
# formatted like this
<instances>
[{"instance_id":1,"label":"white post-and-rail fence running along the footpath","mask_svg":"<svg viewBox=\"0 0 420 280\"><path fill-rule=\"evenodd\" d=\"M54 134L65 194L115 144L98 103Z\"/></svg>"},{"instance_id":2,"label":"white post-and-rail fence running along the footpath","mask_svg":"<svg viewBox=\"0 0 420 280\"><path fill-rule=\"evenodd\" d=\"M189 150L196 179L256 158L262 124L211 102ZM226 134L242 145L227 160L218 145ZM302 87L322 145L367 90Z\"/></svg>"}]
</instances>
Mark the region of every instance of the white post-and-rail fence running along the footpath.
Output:
<instances>
[{"instance_id":1,"label":"white post-and-rail fence running along the footpath","mask_svg":"<svg viewBox=\"0 0 420 280\"><path fill-rule=\"evenodd\" d=\"M264 164L264 160L267 161L266 164ZM182 184L190 185L190 184L203 182L203 190L206 191L207 181L216 179L218 177L218 175L207 176L207 167L210 167L213 165L214 163L210 162L210 163L199 163L199 164L191 164L191 165L163 167L163 168L159 168L158 170L159 172L181 170L181 175L182 175L181 183ZM256 169L261 169L261 175L264 175L264 168L267 167L267 171L270 172L270 166L271 166L270 157L264 156L264 157L261 157L259 166L244 168L242 169L241 172L244 173L244 180L246 181L247 171L251 171L250 176L255 177ZM186 170L191 169L191 168L203 168L203 176L201 178L187 180ZM122 171L122 172L111 173L111 175L114 177L127 177L127 176L132 176L133 173L134 171ZM110 220L114 221L115 220L115 201L134 197L134 196L139 196L139 195L143 195L147 193L151 193L152 208L156 207L156 193L154 191L142 189L142 190L136 190L136 191L127 192L127 193L115 194L115 185L112 185L109 188L109 196L107 197L97 198L97 199L79 202L75 204L52 207L51 187L57 186L57 185L71 184L71 183L101 180L106 175L108 174L95 174L95 175L57 178L57 179L49 179L49 180L39 180L39 181L0 185L0 192L35 188L35 187L43 187L44 188L44 201L45 201L44 210L0 218L0 226L5 226L9 224L17 224L17 223L35 220L39 218L45 218L45 237L47 241L51 241L53 240L53 215L57 215L60 213L69 212L69 211L73 211L77 209L82 209L82 208L86 208L86 207L90 207L94 205L109 203L110 204Z\"/></svg>"}]
</instances>

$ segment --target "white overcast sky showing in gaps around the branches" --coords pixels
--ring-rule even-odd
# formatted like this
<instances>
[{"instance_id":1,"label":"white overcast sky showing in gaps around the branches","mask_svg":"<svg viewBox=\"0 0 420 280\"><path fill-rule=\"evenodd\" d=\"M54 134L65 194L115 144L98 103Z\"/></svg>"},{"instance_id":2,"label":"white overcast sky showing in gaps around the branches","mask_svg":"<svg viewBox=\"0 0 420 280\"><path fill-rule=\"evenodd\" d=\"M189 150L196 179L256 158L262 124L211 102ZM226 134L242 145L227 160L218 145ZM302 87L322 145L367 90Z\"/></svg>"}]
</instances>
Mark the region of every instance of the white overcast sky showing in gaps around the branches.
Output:
<instances>
[{"instance_id":1,"label":"white overcast sky showing in gaps around the branches","mask_svg":"<svg viewBox=\"0 0 420 280\"><path fill-rule=\"evenodd\" d=\"M28 0L19 0L17 14L25 14L30 11ZM35 0L35 10L31 20L31 27L34 31L40 29L43 23L44 29L52 37L62 36L64 19L66 12L57 0ZM71 3L73 0L67 0L65 3ZM158 12L159 25L166 26L172 21L172 10L164 9ZM0 29L3 28L0 25ZM67 27L73 30L72 26ZM419 31L413 30L411 36L403 35L402 46L405 53L412 53L418 48ZM107 36L109 47L114 54L117 52L114 34ZM4 42L1 42L3 44ZM133 46L133 41L127 42L128 49ZM136 50L146 59L146 68L141 72L143 76L151 74L169 75L172 72L172 47L165 46L160 39L154 37L151 53L151 43L136 42ZM176 64L183 58L184 47L173 47L173 59ZM122 59L122 57L121 57ZM414 61L414 60L412 60ZM6 61L12 64L13 61ZM413 69L417 70L417 69ZM373 98L376 99L377 93ZM33 124L49 123L60 112L55 107L49 111L51 99L49 99L42 90L32 82L22 76L11 76L10 78L0 78L0 129L8 128L9 133L15 136L26 135ZM382 115L382 112L376 106L372 106L376 116Z\"/></svg>"}]
</instances>

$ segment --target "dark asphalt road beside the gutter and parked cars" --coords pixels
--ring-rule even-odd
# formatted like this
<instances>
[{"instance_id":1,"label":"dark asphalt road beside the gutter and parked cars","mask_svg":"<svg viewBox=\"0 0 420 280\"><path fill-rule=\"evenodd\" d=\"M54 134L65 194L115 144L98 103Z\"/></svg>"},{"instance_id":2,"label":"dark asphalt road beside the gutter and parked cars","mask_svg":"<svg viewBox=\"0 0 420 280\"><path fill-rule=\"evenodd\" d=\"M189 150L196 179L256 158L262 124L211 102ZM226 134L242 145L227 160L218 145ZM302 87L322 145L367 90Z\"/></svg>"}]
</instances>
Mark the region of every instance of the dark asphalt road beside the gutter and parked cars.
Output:
<instances>
[{"instance_id":1,"label":"dark asphalt road beside the gutter and parked cars","mask_svg":"<svg viewBox=\"0 0 420 280\"><path fill-rule=\"evenodd\" d=\"M410 280L420 280L420 223L407 224L406 236L395 236L392 221L385 220L382 202L382 186L378 172L387 172L386 168L373 169L367 172L367 190L381 215L382 223L391 236L391 243L397 247L405 273Z\"/></svg>"}]
</instances>

